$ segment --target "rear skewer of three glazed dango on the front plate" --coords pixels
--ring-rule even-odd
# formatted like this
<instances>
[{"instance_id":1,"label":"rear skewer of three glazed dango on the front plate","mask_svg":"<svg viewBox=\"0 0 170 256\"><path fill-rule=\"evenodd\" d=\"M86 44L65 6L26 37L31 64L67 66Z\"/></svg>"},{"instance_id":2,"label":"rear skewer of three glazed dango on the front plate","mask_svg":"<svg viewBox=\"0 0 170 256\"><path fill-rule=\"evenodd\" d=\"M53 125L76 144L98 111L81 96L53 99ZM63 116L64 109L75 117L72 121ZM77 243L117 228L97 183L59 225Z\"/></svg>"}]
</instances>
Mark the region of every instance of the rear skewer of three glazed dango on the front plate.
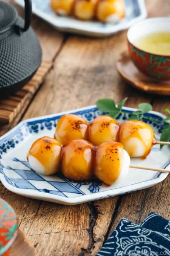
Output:
<instances>
[{"instance_id":1,"label":"rear skewer of three glazed dango on the front plate","mask_svg":"<svg viewBox=\"0 0 170 256\"><path fill-rule=\"evenodd\" d=\"M146 158L153 145L170 145L155 139L153 129L145 122L130 120L119 124L111 116L98 116L88 123L74 114L62 116L56 126L55 136L61 143L70 140L88 140L97 146L107 141L121 142L130 157Z\"/></svg>"}]
</instances>

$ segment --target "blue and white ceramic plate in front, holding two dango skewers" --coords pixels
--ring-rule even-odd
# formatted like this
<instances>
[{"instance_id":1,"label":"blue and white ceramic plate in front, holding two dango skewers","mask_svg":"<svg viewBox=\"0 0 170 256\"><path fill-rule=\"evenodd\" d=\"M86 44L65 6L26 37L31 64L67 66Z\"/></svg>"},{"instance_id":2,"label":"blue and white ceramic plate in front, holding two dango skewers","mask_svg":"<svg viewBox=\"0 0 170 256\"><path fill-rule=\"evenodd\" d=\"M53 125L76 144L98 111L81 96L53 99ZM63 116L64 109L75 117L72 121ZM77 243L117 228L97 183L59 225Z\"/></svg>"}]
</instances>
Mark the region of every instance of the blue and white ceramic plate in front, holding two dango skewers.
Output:
<instances>
[{"instance_id":1,"label":"blue and white ceramic plate in front, holding two dango skewers","mask_svg":"<svg viewBox=\"0 0 170 256\"><path fill-rule=\"evenodd\" d=\"M124 108L124 110L130 113L136 109ZM79 183L57 175L45 176L34 172L26 160L31 144L43 136L53 137L58 119L66 113L75 113L88 122L102 114L96 106L90 106L28 119L0 137L0 180L7 189L30 198L60 204L80 204L145 189L167 177L167 173L163 172L130 169L125 180L106 187L99 180ZM147 115L156 120L164 118L164 115L154 111ZM117 117L117 120L123 122L128 116L128 113L123 113ZM148 122L147 119L144 121ZM148 124L159 140L163 124L159 122ZM170 147L164 146L160 150L159 145L155 145L146 160L132 158L131 164L170 169Z\"/></svg>"}]
</instances>

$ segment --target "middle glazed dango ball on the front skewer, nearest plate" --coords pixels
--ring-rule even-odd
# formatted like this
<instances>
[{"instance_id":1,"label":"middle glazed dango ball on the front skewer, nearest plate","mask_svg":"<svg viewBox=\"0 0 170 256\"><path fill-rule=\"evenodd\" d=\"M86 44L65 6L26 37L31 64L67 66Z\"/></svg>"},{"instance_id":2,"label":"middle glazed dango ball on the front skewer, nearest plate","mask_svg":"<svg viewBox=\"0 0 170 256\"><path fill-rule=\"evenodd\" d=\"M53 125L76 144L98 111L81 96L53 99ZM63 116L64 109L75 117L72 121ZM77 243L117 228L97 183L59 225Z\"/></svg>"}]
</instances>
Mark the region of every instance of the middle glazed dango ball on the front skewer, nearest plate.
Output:
<instances>
[{"instance_id":1,"label":"middle glazed dango ball on the front skewer, nearest plate","mask_svg":"<svg viewBox=\"0 0 170 256\"><path fill-rule=\"evenodd\" d=\"M93 145L86 140L72 140L62 148L62 174L71 180L92 178Z\"/></svg>"}]
</instances>

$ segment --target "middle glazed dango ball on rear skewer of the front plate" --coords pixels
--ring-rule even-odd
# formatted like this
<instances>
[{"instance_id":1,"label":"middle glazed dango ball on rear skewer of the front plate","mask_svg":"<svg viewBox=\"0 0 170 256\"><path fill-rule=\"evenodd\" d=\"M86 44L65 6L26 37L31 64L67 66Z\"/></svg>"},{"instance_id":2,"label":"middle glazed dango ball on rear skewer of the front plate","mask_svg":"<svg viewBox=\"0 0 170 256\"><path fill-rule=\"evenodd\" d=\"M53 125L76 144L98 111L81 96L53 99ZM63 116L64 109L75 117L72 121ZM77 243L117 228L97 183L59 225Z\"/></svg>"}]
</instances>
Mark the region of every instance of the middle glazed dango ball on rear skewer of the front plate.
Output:
<instances>
[{"instance_id":1,"label":"middle glazed dango ball on rear skewer of the front plate","mask_svg":"<svg viewBox=\"0 0 170 256\"><path fill-rule=\"evenodd\" d=\"M119 123L111 116L98 116L88 125L88 139L98 146L107 141L119 140Z\"/></svg>"}]
</instances>

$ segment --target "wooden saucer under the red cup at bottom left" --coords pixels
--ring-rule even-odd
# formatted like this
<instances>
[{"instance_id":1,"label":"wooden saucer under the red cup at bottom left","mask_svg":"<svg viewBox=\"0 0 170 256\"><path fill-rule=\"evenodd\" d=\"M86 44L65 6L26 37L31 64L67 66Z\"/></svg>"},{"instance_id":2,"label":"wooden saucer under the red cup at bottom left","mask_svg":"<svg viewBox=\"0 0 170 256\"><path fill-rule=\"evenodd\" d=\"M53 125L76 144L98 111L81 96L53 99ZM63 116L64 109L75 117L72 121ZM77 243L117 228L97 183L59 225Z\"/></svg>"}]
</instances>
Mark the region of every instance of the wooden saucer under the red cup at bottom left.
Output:
<instances>
[{"instance_id":1,"label":"wooden saucer under the red cup at bottom left","mask_svg":"<svg viewBox=\"0 0 170 256\"><path fill-rule=\"evenodd\" d=\"M9 256L37 256L34 246L20 229Z\"/></svg>"}]
</instances>

